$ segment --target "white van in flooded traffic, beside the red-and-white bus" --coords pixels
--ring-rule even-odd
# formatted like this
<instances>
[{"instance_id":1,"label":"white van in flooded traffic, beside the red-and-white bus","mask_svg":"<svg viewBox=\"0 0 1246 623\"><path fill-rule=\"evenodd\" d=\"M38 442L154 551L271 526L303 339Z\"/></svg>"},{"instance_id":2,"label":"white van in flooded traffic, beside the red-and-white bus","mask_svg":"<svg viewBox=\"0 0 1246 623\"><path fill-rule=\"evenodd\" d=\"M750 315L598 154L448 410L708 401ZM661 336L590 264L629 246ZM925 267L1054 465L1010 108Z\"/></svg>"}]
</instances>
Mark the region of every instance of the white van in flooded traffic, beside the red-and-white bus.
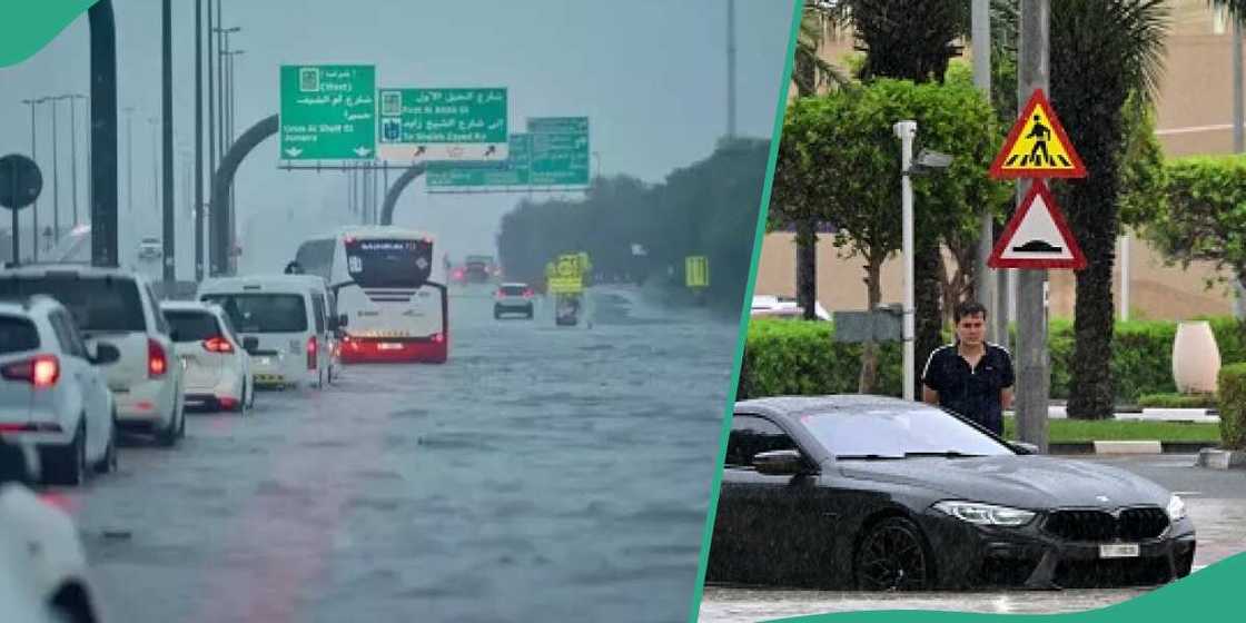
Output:
<instances>
[{"instance_id":1,"label":"white van in flooded traffic, beside the red-and-white bus","mask_svg":"<svg viewBox=\"0 0 1246 623\"><path fill-rule=\"evenodd\" d=\"M229 316L250 354L255 386L323 388L331 375L333 333L324 279L314 275L206 279L196 299Z\"/></svg>"}]
</instances>

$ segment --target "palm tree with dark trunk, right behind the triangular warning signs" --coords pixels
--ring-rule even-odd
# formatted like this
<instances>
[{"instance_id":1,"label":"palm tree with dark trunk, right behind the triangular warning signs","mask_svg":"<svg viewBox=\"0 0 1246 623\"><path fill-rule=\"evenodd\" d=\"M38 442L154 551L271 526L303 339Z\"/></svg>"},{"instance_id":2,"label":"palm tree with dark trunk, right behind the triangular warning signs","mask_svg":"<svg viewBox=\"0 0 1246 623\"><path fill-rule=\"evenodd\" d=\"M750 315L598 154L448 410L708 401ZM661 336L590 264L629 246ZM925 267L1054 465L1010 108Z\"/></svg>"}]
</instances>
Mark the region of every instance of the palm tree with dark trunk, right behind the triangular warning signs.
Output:
<instances>
[{"instance_id":1,"label":"palm tree with dark trunk, right behind the triangular warning signs","mask_svg":"<svg viewBox=\"0 0 1246 623\"><path fill-rule=\"evenodd\" d=\"M1164 0L1052 2L1050 96L1087 166L1084 179L1058 188L1088 267L1077 273L1069 416L1111 417L1111 275L1120 229L1125 102L1154 101L1170 11Z\"/></svg>"}]
</instances>

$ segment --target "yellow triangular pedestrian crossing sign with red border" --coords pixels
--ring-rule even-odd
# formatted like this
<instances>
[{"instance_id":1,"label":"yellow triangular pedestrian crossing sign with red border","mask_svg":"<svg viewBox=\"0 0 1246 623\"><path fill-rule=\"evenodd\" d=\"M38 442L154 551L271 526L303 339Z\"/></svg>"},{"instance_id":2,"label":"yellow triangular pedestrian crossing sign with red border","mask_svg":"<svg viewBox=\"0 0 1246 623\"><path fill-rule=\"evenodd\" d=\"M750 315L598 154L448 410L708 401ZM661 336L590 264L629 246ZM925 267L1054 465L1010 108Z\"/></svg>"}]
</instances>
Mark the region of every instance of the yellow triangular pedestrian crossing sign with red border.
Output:
<instances>
[{"instance_id":1,"label":"yellow triangular pedestrian crossing sign with red border","mask_svg":"<svg viewBox=\"0 0 1246 623\"><path fill-rule=\"evenodd\" d=\"M1008 140L991 164L991 177L1087 177L1073 141L1042 88L1034 90L1008 132Z\"/></svg>"}]
</instances>

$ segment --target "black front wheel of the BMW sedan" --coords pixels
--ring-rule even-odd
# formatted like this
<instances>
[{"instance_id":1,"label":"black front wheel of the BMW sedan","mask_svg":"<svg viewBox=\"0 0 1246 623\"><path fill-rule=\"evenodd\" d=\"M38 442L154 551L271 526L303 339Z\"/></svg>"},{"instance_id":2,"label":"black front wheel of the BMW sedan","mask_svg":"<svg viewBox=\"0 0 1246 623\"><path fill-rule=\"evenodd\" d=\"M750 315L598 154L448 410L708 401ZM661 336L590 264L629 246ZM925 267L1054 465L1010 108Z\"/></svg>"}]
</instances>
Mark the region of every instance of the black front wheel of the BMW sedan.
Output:
<instances>
[{"instance_id":1,"label":"black front wheel of the BMW sedan","mask_svg":"<svg viewBox=\"0 0 1246 623\"><path fill-rule=\"evenodd\" d=\"M921 528L891 517L861 538L852 571L861 591L925 591L934 579L931 558Z\"/></svg>"}]
</instances>

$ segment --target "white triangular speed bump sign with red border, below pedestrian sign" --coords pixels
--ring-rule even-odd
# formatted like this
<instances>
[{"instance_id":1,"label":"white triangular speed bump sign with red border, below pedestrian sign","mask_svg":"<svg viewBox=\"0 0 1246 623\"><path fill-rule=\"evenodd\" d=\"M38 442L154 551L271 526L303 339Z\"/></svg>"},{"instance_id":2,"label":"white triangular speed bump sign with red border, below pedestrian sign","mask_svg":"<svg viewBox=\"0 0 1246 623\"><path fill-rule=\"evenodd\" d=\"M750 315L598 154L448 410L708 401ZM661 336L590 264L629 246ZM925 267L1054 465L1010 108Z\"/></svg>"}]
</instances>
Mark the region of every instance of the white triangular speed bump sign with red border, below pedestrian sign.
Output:
<instances>
[{"instance_id":1,"label":"white triangular speed bump sign with red border, below pedestrian sign","mask_svg":"<svg viewBox=\"0 0 1246 623\"><path fill-rule=\"evenodd\" d=\"M1052 191L1042 179L1025 193L1020 209L1008 222L1003 235L987 260L991 268L1072 268L1087 267L1087 258L1073 238Z\"/></svg>"}]
</instances>

